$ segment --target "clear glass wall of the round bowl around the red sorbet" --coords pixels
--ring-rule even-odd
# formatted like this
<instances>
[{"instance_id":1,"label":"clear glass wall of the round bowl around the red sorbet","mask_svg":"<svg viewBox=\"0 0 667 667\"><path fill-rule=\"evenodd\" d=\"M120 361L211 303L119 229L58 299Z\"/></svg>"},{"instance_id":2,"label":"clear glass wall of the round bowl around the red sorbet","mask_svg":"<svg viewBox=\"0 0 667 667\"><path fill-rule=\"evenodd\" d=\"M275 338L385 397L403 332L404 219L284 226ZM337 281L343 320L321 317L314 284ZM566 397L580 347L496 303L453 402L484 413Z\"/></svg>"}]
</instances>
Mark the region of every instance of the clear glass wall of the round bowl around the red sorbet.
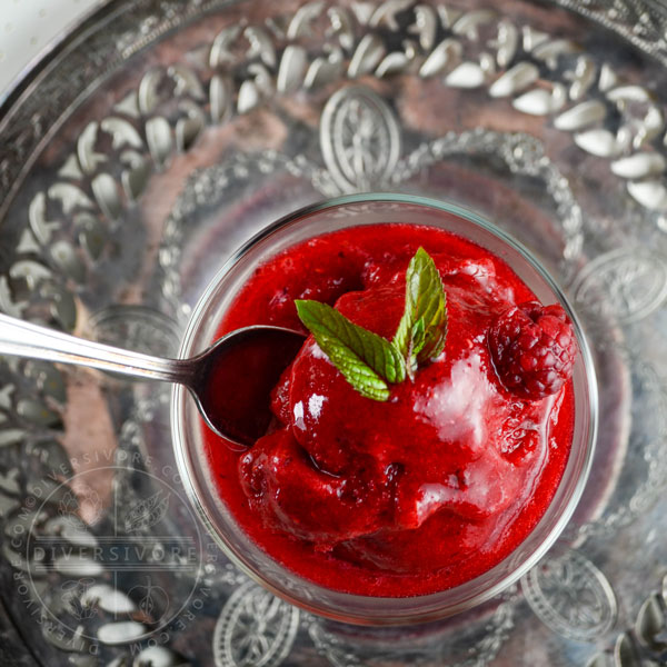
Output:
<instances>
[{"instance_id":1,"label":"clear glass wall of the round bowl around the red sorbet","mask_svg":"<svg viewBox=\"0 0 667 667\"><path fill-rule=\"evenodd\" d=\"M439 227L502 258L545 305L560 303L574 322L579 354L574 369L575 428L569 459L556 494L534 530L498 565L454 588L416 597L370 597L332 590L283 567L257 546L219 497L205 451L201 419L187 390L171 401L176 458L186 490L223 552L256 581L308 611L345 623L399 625L436 620L468 610L518 580L558 538L581 496L597 430L597 385L591 355L565 295L516 240L477 213L442 201L404 195L355 195L317 203L267 227L220 268L193 309L180 347L190 357L211 345L223 313L241 286L267 259L321 233L380 222Z\"/></svg>"}]
</instances>

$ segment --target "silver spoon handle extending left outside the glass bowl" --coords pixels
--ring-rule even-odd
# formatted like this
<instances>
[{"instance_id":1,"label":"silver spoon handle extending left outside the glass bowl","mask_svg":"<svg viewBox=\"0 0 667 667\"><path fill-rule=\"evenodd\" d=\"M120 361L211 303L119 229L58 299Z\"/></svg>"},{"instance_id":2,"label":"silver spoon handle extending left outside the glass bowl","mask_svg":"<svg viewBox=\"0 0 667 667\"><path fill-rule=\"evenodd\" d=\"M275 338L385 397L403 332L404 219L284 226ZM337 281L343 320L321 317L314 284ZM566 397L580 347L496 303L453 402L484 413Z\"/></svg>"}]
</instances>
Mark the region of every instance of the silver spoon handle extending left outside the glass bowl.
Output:
<instances>
[{"instance_id":1,"label":"silver spoon handle extending left outside the glass bowl","mask_svg":"<svg viewBox=\"0 0 667 667\"><path fill-rule=\"evenodd\" d=\"M191 364L160 359L77 338L0 313L0 355L46 359L119 372L136 378L188 384Z\"/></svg>"}]
</instances>

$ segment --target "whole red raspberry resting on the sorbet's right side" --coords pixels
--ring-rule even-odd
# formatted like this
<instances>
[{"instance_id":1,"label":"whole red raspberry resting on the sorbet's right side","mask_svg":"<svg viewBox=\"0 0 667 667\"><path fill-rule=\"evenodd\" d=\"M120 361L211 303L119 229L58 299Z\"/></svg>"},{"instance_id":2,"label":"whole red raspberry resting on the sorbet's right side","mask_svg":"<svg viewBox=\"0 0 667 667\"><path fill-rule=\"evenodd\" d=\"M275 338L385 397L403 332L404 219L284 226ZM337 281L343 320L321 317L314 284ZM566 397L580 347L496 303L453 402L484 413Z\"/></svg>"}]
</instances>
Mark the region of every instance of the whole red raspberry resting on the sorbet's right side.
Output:
<instances>
[{"instance_id":1,"label":"whole red raspberry resting on the sorbet's right side","mask_svg":"<svg viewBox=\"0 0 667 667\"><path fill-rule=\"evenodd\" d=\"M491 325L488 346L498 378L516 396L537 400L556 394L573 372L577 342L558 305L526 301Z\"/></svg>"}]
</instances>

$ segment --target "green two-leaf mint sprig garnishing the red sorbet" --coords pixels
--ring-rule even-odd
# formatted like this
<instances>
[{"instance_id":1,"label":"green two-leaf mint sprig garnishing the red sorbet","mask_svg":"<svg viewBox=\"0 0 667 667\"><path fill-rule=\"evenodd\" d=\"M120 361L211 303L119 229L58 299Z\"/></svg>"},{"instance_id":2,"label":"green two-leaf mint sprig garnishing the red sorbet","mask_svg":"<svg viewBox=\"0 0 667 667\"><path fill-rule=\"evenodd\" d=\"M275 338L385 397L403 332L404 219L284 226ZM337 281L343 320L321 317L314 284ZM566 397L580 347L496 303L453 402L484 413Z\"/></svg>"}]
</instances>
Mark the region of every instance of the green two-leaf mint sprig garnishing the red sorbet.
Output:
<instances>
[{"instance_id":1,"label":"green two-leaf mint sprig garnishing the red sorbet","mask_svg":"<svg viewBox=\"0 0 667 667\"><path fill-rule=\"evenodd\" d=\"M419 364L437 357L447 336L447 302L431 257L419 248L406 273L406 308L390 342L319 301L298 299L303 326L346 380L366 398L385 401L387 382L415 377Z\"/></svg>"}]
</instances>

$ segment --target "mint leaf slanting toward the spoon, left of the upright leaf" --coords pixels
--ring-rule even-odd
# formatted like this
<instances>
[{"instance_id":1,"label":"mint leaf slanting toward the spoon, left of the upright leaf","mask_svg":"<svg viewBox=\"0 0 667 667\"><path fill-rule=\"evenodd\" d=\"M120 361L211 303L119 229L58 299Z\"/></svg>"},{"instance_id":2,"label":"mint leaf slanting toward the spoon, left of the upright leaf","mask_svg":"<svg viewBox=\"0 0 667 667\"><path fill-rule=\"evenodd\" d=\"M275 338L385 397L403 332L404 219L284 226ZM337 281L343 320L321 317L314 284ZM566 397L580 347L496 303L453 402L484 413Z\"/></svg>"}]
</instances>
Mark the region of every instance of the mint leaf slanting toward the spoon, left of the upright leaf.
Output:
<instances>
[{"instance_id":1,"label":"mint leaf slanting toward the spoon, left of the upright leaf","mask_svg":"<svg viewBox=\"0 0 667 667\"><path fill-rule=\"evenodd\" d=\"M320 349L366 398L387 400L387 382L406 379L402 355L388 340L319 301L297 299L297 312Z\"/></svg>"}]
</instances>

